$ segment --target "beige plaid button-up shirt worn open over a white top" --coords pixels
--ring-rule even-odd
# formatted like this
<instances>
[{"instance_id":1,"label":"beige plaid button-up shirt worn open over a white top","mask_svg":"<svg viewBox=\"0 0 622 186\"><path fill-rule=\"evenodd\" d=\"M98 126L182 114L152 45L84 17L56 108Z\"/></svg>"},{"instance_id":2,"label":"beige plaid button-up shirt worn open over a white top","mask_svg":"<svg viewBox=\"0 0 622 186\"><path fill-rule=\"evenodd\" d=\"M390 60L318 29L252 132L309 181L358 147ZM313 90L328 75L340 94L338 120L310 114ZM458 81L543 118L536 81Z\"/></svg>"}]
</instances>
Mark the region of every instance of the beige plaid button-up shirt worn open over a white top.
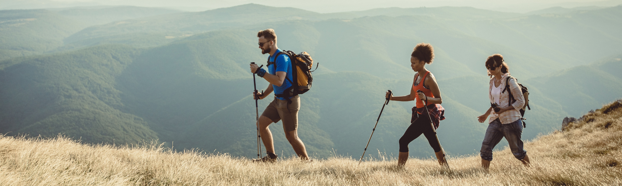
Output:
<instances>
[{"instance_id":1,"label":"beige plaid button-up shirt worn open over a white top","mask_svg":"<svg viewBox=\"0 0 622 186\"><path fill-rule=\"evenodd\" d=\"M503 91L503 89L505 88L506 78L508 77L512 77L512 76L510 76L509 73L505 73L503 74L503 77L501 77L501 84L499 84L499 87L502 87L501 91ZM491 110L490 119L488 119L488 123L493 122L494 120L496 120L496 118L499 118L499 120L501 121L501 124L516 122L516 120L519 120L522 118L521 112L519 112L519 110L525 104L525 98L522 97L521 87L518 86L518 82L516 82L516 79L514 78L510 78L508 84L509 84L510 91L512 91L512 95L514 96L514 99L516 99L516 102L512 104L514 106L514 109L508 110L501 114L496 114L494 113L494 110ZM493 78L490 79L490 88L488 89L488 98L490 98L491 103L494 102L493 95L491 94L493 86L494 86L494 76ZM501 107L508 107L509 101L510 101L509 94L508 94L508 91L506 90L505 92L501 93L501 95L499 96L499 102L500 102L499 105Z\"/></svg>"}]
</instances>

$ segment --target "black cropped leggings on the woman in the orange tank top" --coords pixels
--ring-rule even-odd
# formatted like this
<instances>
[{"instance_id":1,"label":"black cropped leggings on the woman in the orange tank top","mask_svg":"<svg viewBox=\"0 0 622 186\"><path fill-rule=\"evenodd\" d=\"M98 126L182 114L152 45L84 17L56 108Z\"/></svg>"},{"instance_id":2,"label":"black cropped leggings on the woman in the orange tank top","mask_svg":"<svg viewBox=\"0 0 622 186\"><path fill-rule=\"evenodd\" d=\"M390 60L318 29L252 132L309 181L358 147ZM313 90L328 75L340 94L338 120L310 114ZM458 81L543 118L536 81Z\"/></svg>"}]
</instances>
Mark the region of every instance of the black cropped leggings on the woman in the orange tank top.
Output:
<instances>
[{"instance_id":1,"label":"black cropped leggings on the woman in the orange tank top","mask_svg":"<svg viewBox=\"0 0 622 186\"><path fill-rule=\"evenodd\" d=\"M419 118L412 122L411 126L408 126L402 138L399 138L399 152L408 153L408 144L411 143L412 140L417 139L421 134L425 135L425 138L428 139L428 143L430 143L434 152L438 153L440 151L439 142L436 140L436 136L434 136L434 131L432 130L432 125L430 125L430 118L427 113L420 114Z\"/></svg>"}]
</instances>

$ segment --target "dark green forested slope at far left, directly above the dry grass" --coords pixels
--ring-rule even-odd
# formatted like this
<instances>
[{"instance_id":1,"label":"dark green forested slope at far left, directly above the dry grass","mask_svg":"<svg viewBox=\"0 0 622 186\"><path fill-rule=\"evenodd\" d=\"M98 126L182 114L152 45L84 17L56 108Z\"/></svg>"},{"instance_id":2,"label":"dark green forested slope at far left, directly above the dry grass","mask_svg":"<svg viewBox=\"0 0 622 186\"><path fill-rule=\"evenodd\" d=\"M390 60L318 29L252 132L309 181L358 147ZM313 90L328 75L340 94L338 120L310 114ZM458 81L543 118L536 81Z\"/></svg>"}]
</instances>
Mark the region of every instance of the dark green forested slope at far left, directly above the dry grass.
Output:
<instances>
[{"instance_id":1,"label":"dark green forested slope at far left, directly above the dry grass","mask_svg":"<svg viewBox=\"0 0 622 186\"><path fill-rule=\"evenodd\" d=\"M54 136L86 143L157 139L148 123L123 113L116 76L139 50L100 46L59 55L3 61L0 71L2 133Z\"/></svg>"}]
</instances>

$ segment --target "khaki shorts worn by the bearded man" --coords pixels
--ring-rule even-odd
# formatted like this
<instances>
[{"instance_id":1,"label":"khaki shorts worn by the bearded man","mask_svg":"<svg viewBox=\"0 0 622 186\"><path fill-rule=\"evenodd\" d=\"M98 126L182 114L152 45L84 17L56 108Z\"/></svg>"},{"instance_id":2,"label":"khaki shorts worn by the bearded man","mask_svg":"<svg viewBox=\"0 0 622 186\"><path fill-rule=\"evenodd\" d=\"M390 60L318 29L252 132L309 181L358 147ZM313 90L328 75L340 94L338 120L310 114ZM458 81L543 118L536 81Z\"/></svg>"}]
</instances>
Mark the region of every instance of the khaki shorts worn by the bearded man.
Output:
<instances>
[{"instance_id":1,"label":"khaki shorts worn by the bearded man","mask_svg":"<svg viewBox=\"0 0 622 186\"><path fill-rule=\"evenodd\" d=\"M274 97L274 100L261 113L262 116L270 118L276 123L283 120L283 129L285 131L294 131L298 128L298 110L300 110L300 97L298 95L292 97L292 104L287 104L287 100L280 100Z\"/></svg>"}]
</instances>

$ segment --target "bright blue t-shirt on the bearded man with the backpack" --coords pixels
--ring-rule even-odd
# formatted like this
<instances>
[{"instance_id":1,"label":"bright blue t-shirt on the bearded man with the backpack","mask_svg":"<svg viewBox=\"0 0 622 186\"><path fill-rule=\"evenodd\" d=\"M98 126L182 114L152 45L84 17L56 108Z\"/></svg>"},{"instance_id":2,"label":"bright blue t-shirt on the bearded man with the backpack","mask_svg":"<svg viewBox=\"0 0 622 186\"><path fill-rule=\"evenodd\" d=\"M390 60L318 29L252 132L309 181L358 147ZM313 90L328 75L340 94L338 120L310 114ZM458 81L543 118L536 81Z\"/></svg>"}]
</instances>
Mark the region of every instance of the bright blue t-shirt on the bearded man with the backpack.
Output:
<instances>
[{"instance_id":1,"label":"bright blue t-shirt on the bearded man with the backpack","mask_svg":"<svg viewBox=\"0 0 622 186\"><path fill-rule=\"evenodd\" d=\"M281 49L278 49L274 52L274 55L276 55L277 53L281 52ZM274 56L268 56L268 61L274 62ZM276 56L276 69L274 69L274 64L271 64L268 66L268 73L272 74L272 75L276 75L276 72L285 72L287 73L287 79L293 79L292 78L292 62L289 60L289 56L282 54L279 56ZM281 84L281 86L276 86L276 85L272 85L272 88L274 89L274 94L283 94L283 91L285 91L285 89L289 88L290 86L292 86L292 83L289 82L289 80L284 79L283 84ZM285 98L283 97L277 97L278 99L281 100L285 100Z\"/></svg>"}]
</instances>

